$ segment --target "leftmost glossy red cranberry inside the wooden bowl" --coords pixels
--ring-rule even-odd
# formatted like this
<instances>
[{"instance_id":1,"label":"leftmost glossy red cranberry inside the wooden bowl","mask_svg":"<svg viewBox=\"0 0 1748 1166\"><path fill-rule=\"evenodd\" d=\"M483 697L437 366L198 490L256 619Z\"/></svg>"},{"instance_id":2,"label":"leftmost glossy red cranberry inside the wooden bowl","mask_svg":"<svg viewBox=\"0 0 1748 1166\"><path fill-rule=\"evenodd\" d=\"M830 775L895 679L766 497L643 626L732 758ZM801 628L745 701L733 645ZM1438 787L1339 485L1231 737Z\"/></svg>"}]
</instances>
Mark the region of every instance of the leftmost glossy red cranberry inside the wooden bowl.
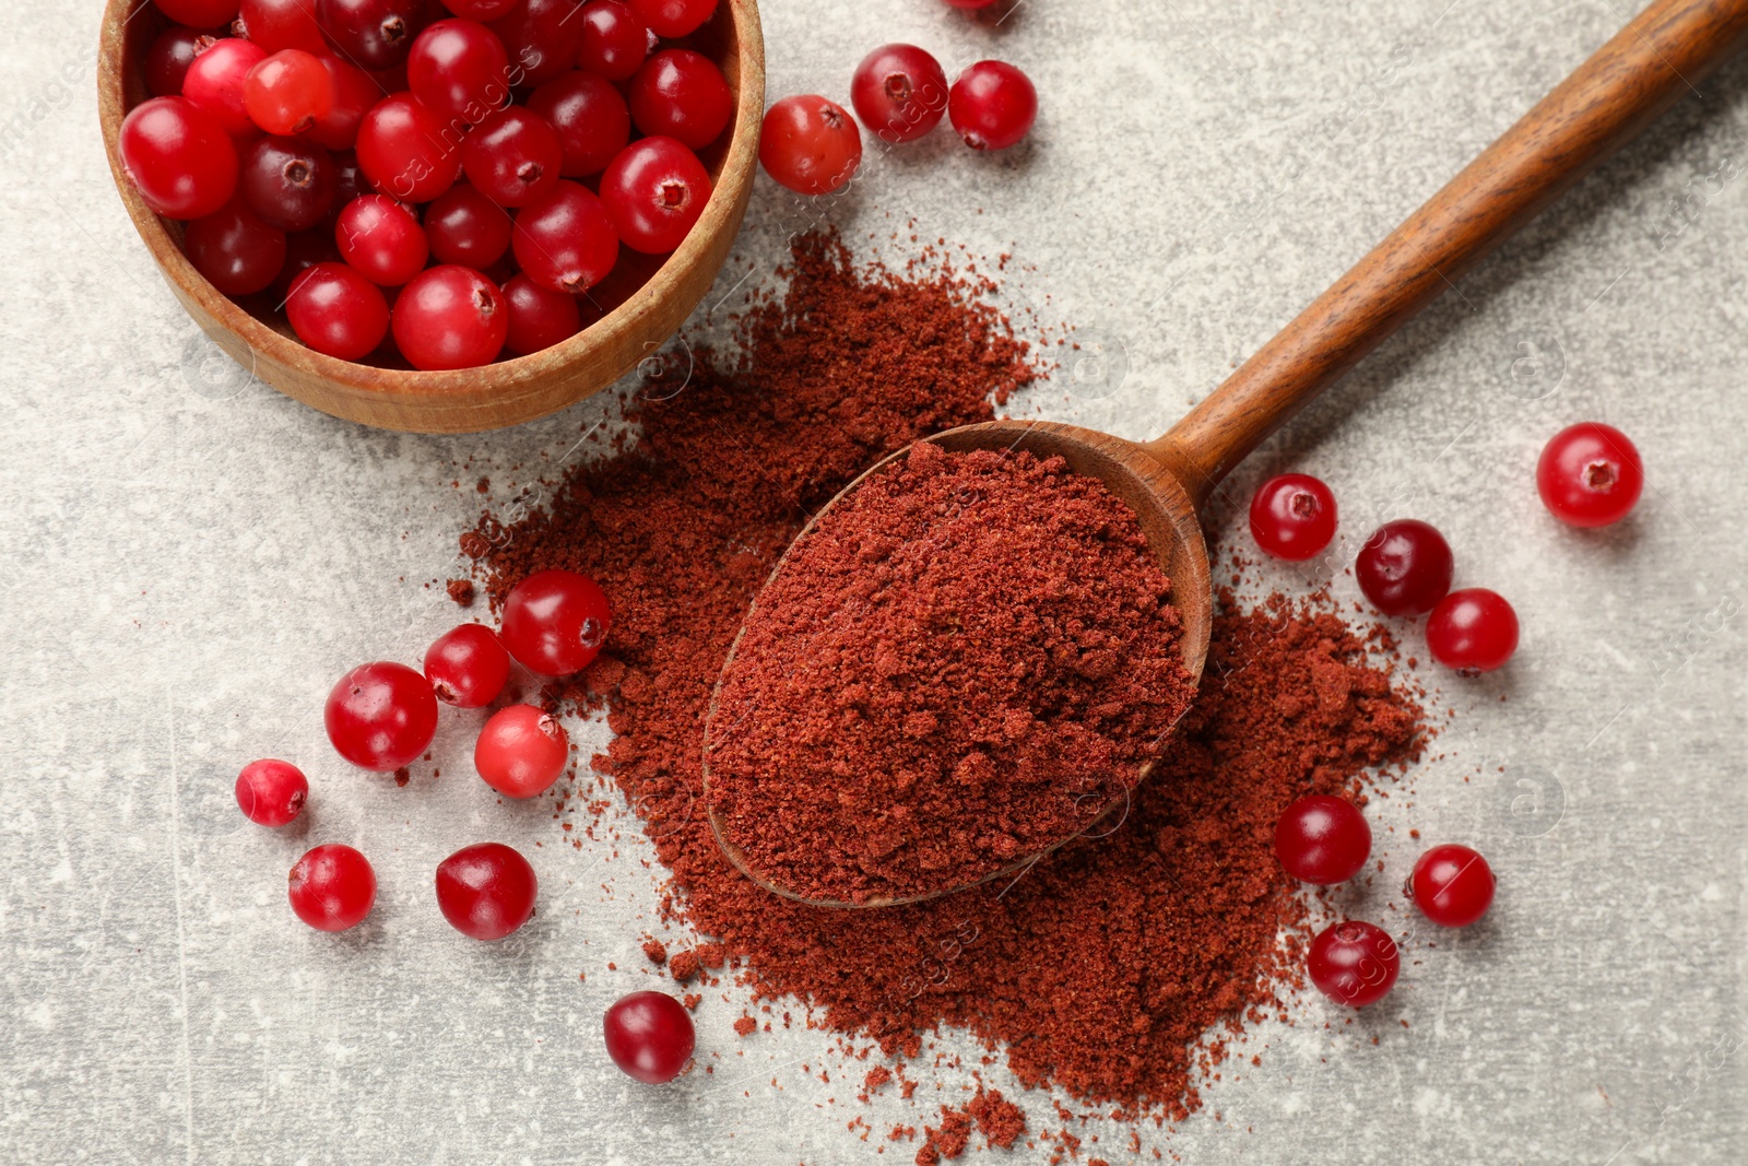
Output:
<instances>
[{"instance_id":1,"label":"leftmost glossy red cranberry inside the wooden bowl","mask_svg":"<svg viewBox=\"0 0 1748 1166\"><path fill-rule=\"evenodd\" d=\"M121 124L121 164L140 198L166 219L218 213L236 192L236 147L187 98L150 98Z\"/></svg>"}]
</instances>

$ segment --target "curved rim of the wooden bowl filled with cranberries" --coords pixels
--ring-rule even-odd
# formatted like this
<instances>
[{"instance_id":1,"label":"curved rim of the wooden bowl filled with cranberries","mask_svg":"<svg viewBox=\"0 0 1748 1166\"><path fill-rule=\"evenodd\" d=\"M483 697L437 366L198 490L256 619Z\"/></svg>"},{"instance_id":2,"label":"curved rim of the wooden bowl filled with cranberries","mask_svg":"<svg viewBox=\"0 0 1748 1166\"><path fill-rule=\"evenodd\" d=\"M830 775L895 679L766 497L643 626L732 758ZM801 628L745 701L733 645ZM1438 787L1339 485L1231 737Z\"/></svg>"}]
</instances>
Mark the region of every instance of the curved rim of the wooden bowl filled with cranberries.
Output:
<instances>
[{"instance_id":1,"label":"curved rim of the wooden bowl filled with cranberries","mask_svg":"<svg viewBox=\"0 0 1748 1166\"><path fill-rule=\"evenodd\" d=\"M182 246L166 227L166 222L147 206L140 192L128 182L119 152L121 122L129 108L128 23L149 5L150 0L107 0L98 42L98 121L103 131L103 150L108 157L110 175L115 180L115 189L128 210L128 217L163 269L171 290L185 304L187 301L194 301L217 327L231 332L255 357L264 357L327 381L339 390L339 395L374 400L399 399L416 404L427 399L479 395L481 383L491 381L489 402L498 411L503 411L503 406L514 406L530 397L547 397L552 378L577 364L586 353L635 344L636 337L647 336L652 330L662 330L671 336L671 329L659 329L656 327L656 320L652 320L664 315L662 309L668 306L662 302L664 297L661 292L673 290L682 283L685 274L692 273L699 264L710 262L710 252L715 250L718 236L724 231L734 234L739 229L739 219L745 213L753 171L757 170L759 126L764 117L764 37L757 0L722 0L718 5L718 10L727 10L727 19L734 30L736 52L732 61L738 73L738 101L731 136L718 175L713 180L710 201L706 201L685 241L666 255L661 266L626 301L552 348L526 357L496 360L474 369L383 369L327 357L267 327L208 283L194 269L194 264L189 262ZM711 280L727 257L725 246L720 252L722 257L717 259L710 271ZM708 290L711 280L704 281L703 290ZM682 320L685 315L690 315L696 302L687 304ZM194 315L196 323L201 323L208 334L213 334L213 329L206 327L199 313L191 311L191 315ZM220 339L217 334L213 337ZM612 379L622 376L635 364L636 360L626 364ZM575 393L570 402L600 392L607 383ZM316 407L323 406L318 404ZM552 409L544 409L531 416L552 413L561 407L565 404L556 404Z\"/></svg>"}]
</instances>

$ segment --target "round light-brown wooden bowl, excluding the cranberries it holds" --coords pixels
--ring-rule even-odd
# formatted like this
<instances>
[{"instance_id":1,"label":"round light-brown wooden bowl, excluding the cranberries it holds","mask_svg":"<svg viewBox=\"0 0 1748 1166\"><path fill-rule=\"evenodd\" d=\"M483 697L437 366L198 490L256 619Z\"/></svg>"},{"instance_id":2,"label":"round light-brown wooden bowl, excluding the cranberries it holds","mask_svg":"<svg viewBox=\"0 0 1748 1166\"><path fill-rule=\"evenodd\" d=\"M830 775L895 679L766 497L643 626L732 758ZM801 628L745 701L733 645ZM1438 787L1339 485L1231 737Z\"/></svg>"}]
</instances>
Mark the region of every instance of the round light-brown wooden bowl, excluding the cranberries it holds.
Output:
<instances>
[{"instance_id":1,"label":"round light-brown wooden bowl, excluding the cranberries it holds","mask_svg":"<svg viewBox=\"0 0 1748 1166\"><path fill-rule=\"evenodd\" d=\"M678 330L710 290L746 213L764 115L764 37L757 0L722 0L710 24L680 42L722 66L736 93L736 110L729 133L699 156L715 189L676 252L640 255L621 248L614 274L589 292L600 318L531 357L453 372L323 357L292 336L267 297L236 302L217 292L182 253L182 224L154 215L122 177L121 122L149 96L142 63L163 28L156 12L135 19L145 5L147 0L108 0L98 47L98 115L121 201L194 322L245 369L337 418L413 434L468 434L517 425L582 400L629 372ZM596 315L589 304L584 311Z\"/></svg>"}]
</instances>

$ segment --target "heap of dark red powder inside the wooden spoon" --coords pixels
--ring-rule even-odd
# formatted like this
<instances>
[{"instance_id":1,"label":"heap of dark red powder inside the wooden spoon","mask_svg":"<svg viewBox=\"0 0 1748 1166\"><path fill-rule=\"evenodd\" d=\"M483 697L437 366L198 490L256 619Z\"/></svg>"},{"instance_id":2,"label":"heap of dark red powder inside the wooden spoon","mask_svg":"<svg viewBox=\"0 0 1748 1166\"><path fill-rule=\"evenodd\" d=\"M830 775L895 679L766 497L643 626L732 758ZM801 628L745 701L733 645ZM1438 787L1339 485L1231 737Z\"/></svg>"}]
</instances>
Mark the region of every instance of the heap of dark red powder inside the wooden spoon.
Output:
<instances>
[{"instance_id":1,"label":"heap of dark red powder inside the wooden spoon","mask_svg":"<svg viewBox=\"0 0 1748 1166\"><path fill-rule=\"evenodd\" d=\"M785 556L710 724L710 799L809 900L988 878L1120 801L1189 708L1171 580L1061 458L932 442Z\"/></svg>"}]
</instances>

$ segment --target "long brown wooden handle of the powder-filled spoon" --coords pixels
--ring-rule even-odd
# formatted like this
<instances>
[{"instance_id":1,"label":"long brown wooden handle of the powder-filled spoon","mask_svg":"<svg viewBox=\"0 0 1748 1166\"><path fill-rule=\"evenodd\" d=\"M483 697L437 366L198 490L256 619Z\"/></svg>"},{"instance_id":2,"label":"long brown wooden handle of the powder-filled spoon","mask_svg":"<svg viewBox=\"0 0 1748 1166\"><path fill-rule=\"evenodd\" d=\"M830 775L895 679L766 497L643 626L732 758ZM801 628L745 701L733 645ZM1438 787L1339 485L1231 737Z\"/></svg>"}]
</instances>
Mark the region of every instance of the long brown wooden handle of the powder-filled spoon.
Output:
<instances>
[{"instance_id":1,"label":"long brown wooden handle of the powder-filled spoon","mask_svg":"<svg viewBox=\"0 0 1748 1166\"><path fill-rule=\"evenodd\" d=\"M1225 474L1474 262L1692 93L1748 0L1657 0L1147 446L1201 507Z\"/></svg>"}]
</instances>

